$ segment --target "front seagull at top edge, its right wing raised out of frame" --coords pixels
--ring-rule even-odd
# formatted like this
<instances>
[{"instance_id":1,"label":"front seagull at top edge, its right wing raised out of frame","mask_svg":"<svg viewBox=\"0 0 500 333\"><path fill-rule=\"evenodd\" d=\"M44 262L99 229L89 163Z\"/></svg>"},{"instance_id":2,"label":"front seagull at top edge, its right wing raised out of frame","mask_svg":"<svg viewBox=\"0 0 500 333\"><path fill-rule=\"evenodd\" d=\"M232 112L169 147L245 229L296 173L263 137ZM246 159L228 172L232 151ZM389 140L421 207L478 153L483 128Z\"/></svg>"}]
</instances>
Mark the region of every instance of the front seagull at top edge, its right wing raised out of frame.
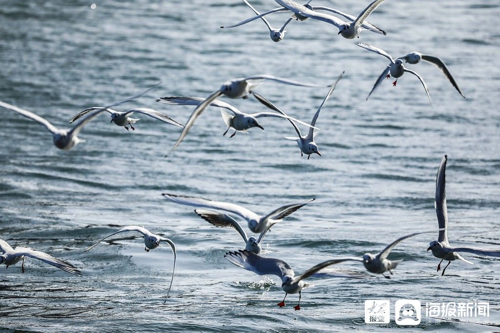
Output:
<instances>
[{"instance_id":1,"label":"front seagull at top edge, its right wing raised out of frame","mask_svg":"<svg viewBox=\"0 0 500 333\"><path fill-rule=\"evenodd\" d=\"M376 7L380 5L384 0L374 0L366 8L364 8L363 11L352 21L352 22L344 22L341 19L325 14L322 12L314 11L310 8L307 8L298 2L295 2L293 0L275 0L278 4L282 5L283 7L293 11L295 15L301 15L305 17L310 17L313 19L317 19L326 23L330 23L335 25L338 28L338 34L341 34L342 37L347 38L347 39L353 39L358 37L359 38L359 33L361 32L361 25L364 23L364 20L368 17L368 15L375 10ZM372 26L374 27L374 26ZM376 27L375 27L376 28ZM376 29L371 29L371 31L386 34L385 31L376 28Z\"/></svg>"}]
</instances>

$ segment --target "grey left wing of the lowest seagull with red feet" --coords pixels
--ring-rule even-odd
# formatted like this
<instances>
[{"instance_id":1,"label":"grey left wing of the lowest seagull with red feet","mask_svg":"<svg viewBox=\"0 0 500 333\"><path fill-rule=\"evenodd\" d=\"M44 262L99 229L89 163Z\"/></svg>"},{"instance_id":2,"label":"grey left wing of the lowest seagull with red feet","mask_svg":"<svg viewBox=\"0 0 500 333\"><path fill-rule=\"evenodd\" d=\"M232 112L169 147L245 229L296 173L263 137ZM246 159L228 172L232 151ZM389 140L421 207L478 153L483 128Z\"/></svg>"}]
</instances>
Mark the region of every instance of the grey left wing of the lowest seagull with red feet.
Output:
<instances>
[{"instance_id":1,"label":"grey left wing of the lowest seagull with red feet","mask_svg":"<svg viewBox=\"0 0 500 333\"><path fill-rule=\"evenodd\" d=\"M282 279L285 275L293 277L291 267L282 260L264 258L247 250L227 252L224 255L231 264L244 268L258 275L275 275Z\"/></svg>"}]
</instances>

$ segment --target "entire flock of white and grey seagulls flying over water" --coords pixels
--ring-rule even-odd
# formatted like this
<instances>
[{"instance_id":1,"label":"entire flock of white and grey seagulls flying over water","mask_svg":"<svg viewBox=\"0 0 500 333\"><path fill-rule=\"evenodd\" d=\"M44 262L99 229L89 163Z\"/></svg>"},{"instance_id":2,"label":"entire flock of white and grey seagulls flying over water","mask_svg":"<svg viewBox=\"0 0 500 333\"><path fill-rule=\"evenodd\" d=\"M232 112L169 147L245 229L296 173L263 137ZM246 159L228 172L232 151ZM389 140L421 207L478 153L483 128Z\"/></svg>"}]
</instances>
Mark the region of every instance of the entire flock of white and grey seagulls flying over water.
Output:
<instances>
[{"instance_id":1,"label":"entire flock of white and grey seagulls flying over water","mask_svg":"<svg viewBox=\"0 0 500 333\"><path fill-rule=\"evenodd\" d=\"M309 0L305 4L299 4L293 0L275 0L275 2L279 5L277 8L273 8L267 10L263 13L259 13L247 0L242 0L255 14L252 17L244 19L238 23L221 26L221 28L234 28L240 26L242 24L246 24L248 22L254 20L262 20L269 30L269 35L272 41L280 42L283 40L285 36L285 27L292 21L305 21L307 19L319 20L325 23L329 23L335 26L338 29L337 34L341 35L346 39L359 38L359 34L361 31L371 31L374 33L379 33L386 35L386 31L382 30L378 26L374 25L367 21L368 16L371 12L373 12L384 0L374 0L369 3L357 16L353 16L344 12L341 12L337 9L324 7L324 6L312 6L310 4L311 0ZM271 2L270 0L268 1ZM283 25L280 28L273 28L265 16L276 14L276 13L292 13L291 17L288 17L286 21L284 21ZM339 18L338 16L342 17ZM344 21L345 20L345 21ZM301 23L305 24L305 23ZM325 29L329 28L329 26L325 25ZM462 93L458 84L451 76L450 71L444 64L444 62L436 57L431 55L423 55L418 52L411 52L404 56L400 56L394 59L384 50L368 45L365 43L356 43L356 45L374 52L380 55L383 55L389 60L389 64L386 65L383 72L377 78L373 88L368 93L366 99L377 89L377 87L383 82L384 78L389 78L392 76L395 80L392 84L395 86L397 83L397 79L401 77L405 72L411 73L416 76L421 84L424 87L426 96L431 103L429 89L425 84L423 78L416 73L415 71L406 68L403 65L403 61L409 64L416 64L421 60L429 62L435 65L438 69L440 69L452 86L458 91L458 93L465 98L465 95ZM78 143L83 142L78 138L78 134L82 130L82 128L88 124L90 121L94 120L96 116L100 113L108 112L111 116L110 122L114 122L117 126L123 126L127 131L130 129L133 131L135 127L133 126L139 119L132 118L131 116L135 114L142 114L149 116L153 119L159 120L161 122L180 127L182 131L173 144L170 152L168 152L165 156L172 153L183 141L187 133L191 130L194 125L195 120L201 116L202 112L208 106L215 106L220 109L221 116L223 122L225 124L225 131L223 135L226 135L229 130L233 131L230 137L233 137L237 132L246 133L247 130L253 127L257 127L260 129L264 129L264 127L259 123L261 118L281 118L283 120L288 121L297 136L286 137L286 139L296 141L298 148L300 149L300 156L303 154L307 155L307 159L311 157L312 154L317 154L321 156L318 145L314 141L316 135L319 133L319 129L315 126L319 113L325 103L328 101L336 85L342 79L344 72L340 73L338 78L332 84L312 84L305 82L298 82L286 78L276 77L268 74L258 74L251 75L248 77L229 79L224 82L220 88L214 90L207 97L190 97L190 96L165 96L159 97L156 99L156 102L167 104L167 105L184 105L184 106L194 106L194 109L185 122L185 124L181 124L171 117L149 108L134 108L128 111L116 111L113 110L112 107L119 106L131 100L135 100L145 93L149 92L153 88L156 88L160 85L160 83L155 84L152 87L149 87L147 90L142 91L136 95L133 95L129 98L112 102L107 106L97 106L86 108L85 110L77 113L72 119L69 120L69 123L74 123L73 127L69 129L60 129L52 125L46 119L32 113L30 111L19 108L15 105L6 103L4 101L0 101L0 106L9 109L11 111L15 111L26 118L34 120L39 124L46 127L46 129L51 133L53 144L62 150L69 150L74 148ZM292 85L298 87L328 87L329 90L325 95L323 101L319 105L318 109L314 113L310 123L303 122L301 120L295 119L293 117L288 116L284 111L282 111L278 106L274 105L272 102L267 100L265 97L255 92L254 90L258 87L260 83L263 81L273 81L275 83L283 84L283 85ZM238 110L234 106L230 105L227 102L220 100L220 97L228 97L231 99L237 98L249 98L250 96L255 97L260 103L266 106L270 111L266 112L256 112L256 113L246 113ZM105 104L104 104L105 105ZM307 133L302 134L298 125L302 125L307 127ZM500 257L500 250L487 250L480 249L475 247L452 247L448 243L447 238L447 230L448 230L448 219L447 219L447 208L446 208L446 192L445 192L445 169L447 163L447 156L445 155L441 162L439 163L437 174L436 174L436 189L435 189L435 211L438 222L438 238L437 240L431 241L429 243L429 247L427 251L431 251L432 255L441 261L437 265L437 272L441 270L441 263L443 261L447 261L448 263L442 269L441 275L444 275L446 268L450 265L452 261L461 260L468 264L472 264L470 261L464 259L460 256L459 253L472 253L478 256L492 256L492 257ZM422 231L417 233L412 233L409 235L404 235L399 237L391 244L387 245L383 250L381 250L377 254L366 253L362 257L344 257L344 258L331 258L324 262L318 263L312 268L306 270L301 275L295 276L293 269L286 262L280 259L267 258L262 256L262 242L264 236L269 231L269 229L274 226L276 223L279 223L281 220L295 212L296 210L304 207L310 206L313 207L315 205L324 204L321 202L316 202L315 198L310 198L308 200L291 203L288 205L281 206L268 212L266 214L257 214L247 208L241 207L240 205L228 202L214 201L211 199L203 199L193 196L180 195L180 194L171 194L171 193L162 193L162 196L167 200L185 206L195 207L194 212L203 220L207 221L211 225L220 228L232 228L234 229L244 242L244 249L237 251L229 251L225 253L224 257L231 264L241 267L247 271L254 272L258 275L275 275L279 277L281 280L281 288L283 292L285 292L285 296L281 302L277 305L279 307L285 306L285 298L288 294L299 294L298 303L294 307L295 310L300 310L300 299L301 299L301 290L307 284L304 282L305 279L316 275L318 272L321 272L324 268L336 265L339 263L347 263L352 262L354 265L358 265L355 263L361 263L364 268L373 274L381 274L385 278L390 279L389 275L392 275L392 271L401 263L402 260L389 260L387 259L391 250L396 247L400 242L416 237L423 234L433 233L435 231ZM242 219L247 222L247 227L250 232L258 235L255 237L248 237L244 228L238 223L238 220ZM147 229L139 226L127 226L124 227L112 234L105 236L104 238L98 240L93 245L89 246L84 252L91 250L93 247L98 245L100 242L108 239L109 237L122 233L122 232L138 232L144 237L144 250L149 252L149 250L156 249L158 247L162 247L161 242L168 244L173 253L173 267L171 272L170 285L168 287L168 291L166 293L165 301L170 294L170 289L172 287L172 283L174 280L174 272L175 272L175 264L177 261L177 253L176 246L173 241L168 238L156 235L148 231ZM14 265L18 262L21 262L21 272L24 273L24 260L26 257L34 258L41 260L49 265L55 266L67 273L80 276L81 272L74 267L73 265L52 257L44 252L37 251L34 249L30 249L27 247L18 246L13 249L7 242L0 239L0 264L5 265L7 268L11 265ZM388 273L389 275L386 275ZM328 274L330 277L342 277L342 278L353 278L359 279L368 276L364 273L359 273L355 271L349 270L339 270L338 272L330 272Z\"/></svg>"}]
</instances>

